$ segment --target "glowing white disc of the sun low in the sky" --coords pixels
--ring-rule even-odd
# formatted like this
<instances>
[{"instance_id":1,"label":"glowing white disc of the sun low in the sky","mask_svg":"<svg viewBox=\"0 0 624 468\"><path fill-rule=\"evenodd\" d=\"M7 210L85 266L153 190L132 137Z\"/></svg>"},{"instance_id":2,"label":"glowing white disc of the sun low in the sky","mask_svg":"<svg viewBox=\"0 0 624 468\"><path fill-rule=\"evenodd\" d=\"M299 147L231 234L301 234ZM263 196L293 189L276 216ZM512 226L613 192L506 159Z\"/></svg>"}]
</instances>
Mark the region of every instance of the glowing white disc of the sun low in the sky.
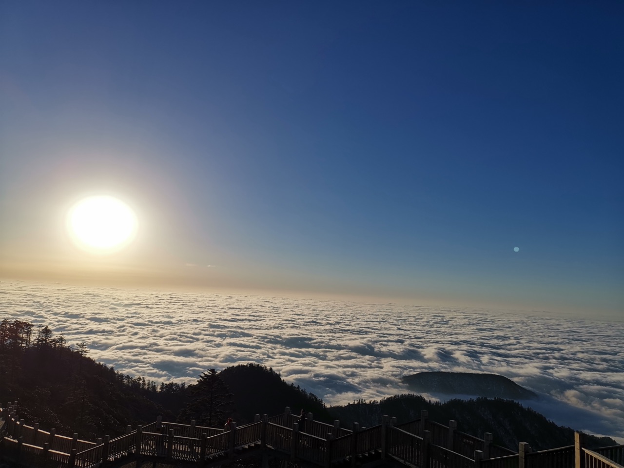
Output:
<instances>
[{"instance_id":1,"label":"glowing white disc of the sun low in the sky","mask_svg":"<svg viewBox=\"0 0 624 468\"><path fill-rule=\"evenodd\" d=\"M104 195L76 203L67 215L67 228L80 248L92 253L112 253L134 239L138 223L132 208Z\"/></svg>"}]
</instances>

